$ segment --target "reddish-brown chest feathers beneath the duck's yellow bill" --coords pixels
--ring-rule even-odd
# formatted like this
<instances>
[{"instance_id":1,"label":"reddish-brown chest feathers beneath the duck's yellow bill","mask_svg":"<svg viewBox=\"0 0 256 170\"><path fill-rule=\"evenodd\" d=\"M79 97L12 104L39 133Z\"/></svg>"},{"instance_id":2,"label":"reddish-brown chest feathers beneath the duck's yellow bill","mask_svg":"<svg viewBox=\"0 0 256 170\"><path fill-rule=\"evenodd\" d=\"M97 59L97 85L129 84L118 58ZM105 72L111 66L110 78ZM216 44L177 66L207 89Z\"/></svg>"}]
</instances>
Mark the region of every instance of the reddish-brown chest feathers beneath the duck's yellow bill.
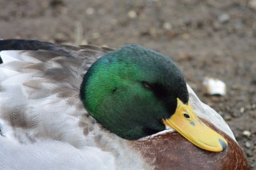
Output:
<instances>
[{"instance_id":1,"label":"reddish-brown chest feathers beneath the duck's yellow bill","mask_svg":"<svg viewBox=\"0 0 256 170\"><path fill-rule=\"evenodd\" d=\"M249 170L239 145L209 122L202 121L227 139L226 150L218 153L202 150L177 132L133 141L132 146L156 170Z\"/></svg>"}]
</instances>

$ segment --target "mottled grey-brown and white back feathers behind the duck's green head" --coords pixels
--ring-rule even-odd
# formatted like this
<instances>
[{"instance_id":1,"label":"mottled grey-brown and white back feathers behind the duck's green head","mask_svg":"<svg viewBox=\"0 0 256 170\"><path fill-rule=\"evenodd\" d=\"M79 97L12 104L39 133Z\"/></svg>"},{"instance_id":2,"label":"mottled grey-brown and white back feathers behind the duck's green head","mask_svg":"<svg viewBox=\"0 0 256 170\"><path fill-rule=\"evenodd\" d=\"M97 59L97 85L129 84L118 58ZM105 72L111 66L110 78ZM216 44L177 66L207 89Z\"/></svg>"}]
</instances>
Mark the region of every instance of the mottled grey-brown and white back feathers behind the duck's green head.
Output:
<instances>
[{"instance_id":1,"label":"mottled grey-brown and white back feathers behind the duck's green head","mask_svg":"<svg viewBox=\"0 0 256 170\"><path fill-rule=\"evenodd\" d=\"M0 52L0 117L14 129L13 134L2 129L3 136L21 143L48 138L79 147L79 135L63 131L76 130L70 122L85 111L79 100L83 75L106 51L41 41L0 42L5 44Z\"/></svg>"}]
</instances>

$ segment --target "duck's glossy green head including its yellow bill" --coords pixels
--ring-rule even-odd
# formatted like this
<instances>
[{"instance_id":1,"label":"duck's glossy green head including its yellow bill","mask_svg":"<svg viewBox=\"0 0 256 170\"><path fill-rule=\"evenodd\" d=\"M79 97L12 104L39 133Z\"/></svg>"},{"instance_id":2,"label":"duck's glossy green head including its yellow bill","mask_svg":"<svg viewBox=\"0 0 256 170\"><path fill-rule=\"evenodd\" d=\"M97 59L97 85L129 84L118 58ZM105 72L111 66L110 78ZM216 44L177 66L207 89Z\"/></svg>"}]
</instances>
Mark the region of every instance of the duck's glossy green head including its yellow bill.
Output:
<instances>
[{"instance_id":1,"label":"duck's glossy green head including its yellow bill","mask_svg":"<svg viewBox=\"0 0 256 170\"><path fill-rule=\"evenodd\" d=\"M87 111L124 139L171 127L202 149L227 147L227 141L191 108L180 69L148 48L125 45L98 59L84 75L80 95Z\"/></svg>"}]
</instances>

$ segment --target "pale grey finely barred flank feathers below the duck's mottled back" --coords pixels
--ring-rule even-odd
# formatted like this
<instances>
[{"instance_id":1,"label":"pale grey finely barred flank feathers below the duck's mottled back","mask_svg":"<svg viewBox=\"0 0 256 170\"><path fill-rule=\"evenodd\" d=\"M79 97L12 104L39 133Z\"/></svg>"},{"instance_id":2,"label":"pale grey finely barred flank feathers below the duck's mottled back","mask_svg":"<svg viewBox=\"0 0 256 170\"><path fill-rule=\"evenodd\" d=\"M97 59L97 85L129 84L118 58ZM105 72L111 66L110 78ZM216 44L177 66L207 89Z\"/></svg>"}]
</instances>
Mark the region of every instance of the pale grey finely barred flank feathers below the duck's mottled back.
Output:
<instances>
[{"instance_id":1,"label":"pale grey finely barred flank feathers below the duck's mottled back","mask_svg":"<svg viewBox=\"0 0 256 170\"><path fill-rule=\"evenodd\" d=\"M0 136L2 170L107 170L113 156L95 147L79 150L60 141L20 144ZM100 158L100 159L99 159Z\"/></svg>"}]
</instances>

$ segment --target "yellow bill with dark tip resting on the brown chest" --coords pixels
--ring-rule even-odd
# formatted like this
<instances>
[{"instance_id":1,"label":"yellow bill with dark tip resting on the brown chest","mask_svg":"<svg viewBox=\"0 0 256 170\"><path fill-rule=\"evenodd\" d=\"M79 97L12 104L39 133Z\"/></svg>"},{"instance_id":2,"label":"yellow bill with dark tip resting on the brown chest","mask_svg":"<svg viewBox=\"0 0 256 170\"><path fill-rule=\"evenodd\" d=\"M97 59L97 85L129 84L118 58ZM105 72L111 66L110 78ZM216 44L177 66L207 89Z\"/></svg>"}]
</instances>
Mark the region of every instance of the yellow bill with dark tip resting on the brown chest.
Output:
<instances>
[{"instance_id":1,"label":"yellow bill with dark tip resting on the brown chest","mask_svg":"<svg viewBox=\"0 0 256 170\"><path fill-rule=\"evenodd\" d=\"M220 152L227 148L227 140L198 119L190 104L185 105L178 98L175 113L163 123L204 150Z\"/></svg>"}]
</instances>

